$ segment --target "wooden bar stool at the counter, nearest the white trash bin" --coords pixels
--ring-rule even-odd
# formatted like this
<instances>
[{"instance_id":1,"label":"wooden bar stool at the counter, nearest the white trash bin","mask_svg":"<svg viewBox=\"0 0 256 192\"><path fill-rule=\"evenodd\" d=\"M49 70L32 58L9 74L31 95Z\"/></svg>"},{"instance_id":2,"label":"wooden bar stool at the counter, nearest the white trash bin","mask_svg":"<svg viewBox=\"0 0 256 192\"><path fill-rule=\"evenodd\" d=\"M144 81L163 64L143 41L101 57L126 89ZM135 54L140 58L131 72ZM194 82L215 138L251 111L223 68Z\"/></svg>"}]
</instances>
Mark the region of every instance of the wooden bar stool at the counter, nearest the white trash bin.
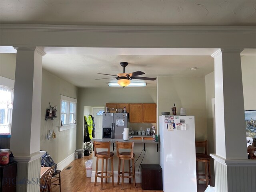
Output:
<instances>
[{"instance_id":1,"label":"wooden bar stool at the counter, nearest the white trash bin","mask_svg":"<svg viewBox=\"0 0 256 192\"><path fill-rule=\"evenodd\" d=\"M103 178L105 178L106 183L107 178L112 178L112 186L114 187L114 169L113 169L113 156L114 153L110 152L110 141L109 142L93 142L94 146L94 156L97 157L96 159L96 170L95 170L95 182L94 186L97 184L97 178L101 178L101 183L100 183L100 190L102 190L103 187ZM108 149L107 151L101 151L97 152L97 149ZM101 159L101 171L98 172L98 162L99 159ZM111 159L111 172L108 171L108 159ZM106 160L106 167L104 171L104 160ZM104 175L105 173L105 175Z\"/></svg>"}]
</instances>

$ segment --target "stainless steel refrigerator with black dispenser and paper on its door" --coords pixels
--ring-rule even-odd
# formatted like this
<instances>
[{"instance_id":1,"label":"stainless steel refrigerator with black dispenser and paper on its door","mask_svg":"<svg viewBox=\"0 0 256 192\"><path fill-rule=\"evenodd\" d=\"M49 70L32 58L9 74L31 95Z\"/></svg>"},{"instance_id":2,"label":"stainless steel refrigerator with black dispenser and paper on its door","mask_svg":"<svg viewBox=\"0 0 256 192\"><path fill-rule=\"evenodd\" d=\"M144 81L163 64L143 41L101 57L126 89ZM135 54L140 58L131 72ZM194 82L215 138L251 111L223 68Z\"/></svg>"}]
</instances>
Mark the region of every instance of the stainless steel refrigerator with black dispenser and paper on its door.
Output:
<instances>
[{"instance_id":1,"label":"stainless steel refrigerator with black dispenser and paper on its door","mask_svg":"<svg viewBox=\"0 0 256 192\"><path fill-rule=\"evenodd\" d=\"M102 139L122 139L122 132L128 127L127 123L127 113L103 113Z\"/></svg>"}]
</instances>

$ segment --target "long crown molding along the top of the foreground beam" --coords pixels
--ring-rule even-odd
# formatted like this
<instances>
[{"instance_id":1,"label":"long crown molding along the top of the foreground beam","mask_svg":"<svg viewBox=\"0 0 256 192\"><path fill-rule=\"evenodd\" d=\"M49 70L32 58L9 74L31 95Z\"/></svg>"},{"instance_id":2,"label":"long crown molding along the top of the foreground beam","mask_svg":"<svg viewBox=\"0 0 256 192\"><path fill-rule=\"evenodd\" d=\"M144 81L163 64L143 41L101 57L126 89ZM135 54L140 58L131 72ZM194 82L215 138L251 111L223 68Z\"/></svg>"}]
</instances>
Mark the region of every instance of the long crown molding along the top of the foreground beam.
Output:
<instances>
[{"instance_id":1,"label":"long crown molding along the top of the foreground beam","mask_svg":"<svg viewBox=\"0 0 256 192\"><path fill-rule=\"evenodd\" d=\"M256 33L255 26L70 26L2 24L0 31L135 32L135 33Z\"/></svg>"}]
</instances>

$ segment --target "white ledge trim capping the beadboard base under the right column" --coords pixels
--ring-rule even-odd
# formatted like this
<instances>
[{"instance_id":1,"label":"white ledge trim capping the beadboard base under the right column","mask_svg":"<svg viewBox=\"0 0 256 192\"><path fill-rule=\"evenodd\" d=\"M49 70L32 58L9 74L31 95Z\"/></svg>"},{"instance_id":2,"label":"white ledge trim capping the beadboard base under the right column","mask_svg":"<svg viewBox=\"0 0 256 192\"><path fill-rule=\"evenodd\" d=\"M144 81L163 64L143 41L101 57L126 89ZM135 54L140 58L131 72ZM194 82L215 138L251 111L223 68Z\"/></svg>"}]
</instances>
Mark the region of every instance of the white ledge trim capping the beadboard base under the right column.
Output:
<instances>
[{"instance_id":1,"label":"white ledge trim capping the beadboard base under the right column","mask_svg":"<svg viewBox=\"0 0 256 192\"><path fill-rule=\"evenodd\" d=\"M252 159L225 159L216 154L210 154L210 156L214 158L215 161L224 164L225 166L256 166L256 161Z\"/></svg>"}]
</instances>

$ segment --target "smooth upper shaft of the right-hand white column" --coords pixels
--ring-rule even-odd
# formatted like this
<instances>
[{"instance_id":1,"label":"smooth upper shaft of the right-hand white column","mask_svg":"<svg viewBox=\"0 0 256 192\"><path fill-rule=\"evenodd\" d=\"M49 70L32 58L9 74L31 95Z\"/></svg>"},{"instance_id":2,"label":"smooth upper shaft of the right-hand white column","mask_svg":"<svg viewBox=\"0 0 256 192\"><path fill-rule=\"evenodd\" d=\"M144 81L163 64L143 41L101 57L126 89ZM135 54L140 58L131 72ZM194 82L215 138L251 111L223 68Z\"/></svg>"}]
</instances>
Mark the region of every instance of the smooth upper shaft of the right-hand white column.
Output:
<instances>
[{"instance_id":1,"label":"smooth upper shaft of the right-hand white column","mask_svg":"<svg viewBox=\"0 0 256 192\"><path fill-rule=\"evenodd\" d=\"M214 57L216 154L247 159L240 52L221 49Z\"/></svg>"}]
</instances>

